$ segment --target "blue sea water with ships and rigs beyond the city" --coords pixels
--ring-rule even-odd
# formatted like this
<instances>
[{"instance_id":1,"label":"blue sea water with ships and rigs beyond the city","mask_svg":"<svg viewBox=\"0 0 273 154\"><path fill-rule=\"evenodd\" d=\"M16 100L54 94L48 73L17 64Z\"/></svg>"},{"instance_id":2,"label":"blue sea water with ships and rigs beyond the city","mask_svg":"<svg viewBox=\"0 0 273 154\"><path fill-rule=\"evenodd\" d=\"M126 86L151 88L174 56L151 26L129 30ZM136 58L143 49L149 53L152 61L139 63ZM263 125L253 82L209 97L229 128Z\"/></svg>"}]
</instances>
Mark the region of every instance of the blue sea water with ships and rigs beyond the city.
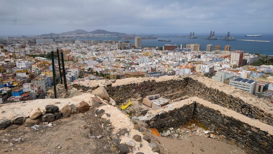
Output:
<instances>
[{"instance_id":1,"label":"blue sea water with ships and rigs beyond the city","mask_svg":"<svg viewBox=\"0 0 273 154\"><path fill-rule=\"evenodd\" d=\"M186 37L189 34L181 34L181 36ZM195 34L200 38L204 38L207 35L206 34ZM226 34L220 34L217 35L217 37L222 38ZM243 50L245 52L249 52L251 54L254 53L260 53L265 55L273 55L273 34L262 34L262 37L246 37L244 35L254 35L254 34L237 34L232 35L237 40L235 41L228 41L228 40L205 40L205 39L187 39L187 38L175 38L180 37L178 35L155 35L157 36L157 39L153 40L141 40L141 43L143 46L163 46L165 44L176 44L177 46L179 44L192 44L197 43L201 44L201 50L206 50L206 45L212 44L213 49L214 45L221 45L221 48L224 49L225 45L230 45L230 49L232 50ZM117 38L112 37L100 37L100 38L75 38L76 40L119 40ZM170 42L164 42L164 41L158 41L158 40L168 40L170 39ZM238 41L238 40L267 40L270 42L250 42L250 41ZM126 41L126 40L122 40ZM134 40L128 40L130 43L135 44Z\"/></svg>"}]
</instances>

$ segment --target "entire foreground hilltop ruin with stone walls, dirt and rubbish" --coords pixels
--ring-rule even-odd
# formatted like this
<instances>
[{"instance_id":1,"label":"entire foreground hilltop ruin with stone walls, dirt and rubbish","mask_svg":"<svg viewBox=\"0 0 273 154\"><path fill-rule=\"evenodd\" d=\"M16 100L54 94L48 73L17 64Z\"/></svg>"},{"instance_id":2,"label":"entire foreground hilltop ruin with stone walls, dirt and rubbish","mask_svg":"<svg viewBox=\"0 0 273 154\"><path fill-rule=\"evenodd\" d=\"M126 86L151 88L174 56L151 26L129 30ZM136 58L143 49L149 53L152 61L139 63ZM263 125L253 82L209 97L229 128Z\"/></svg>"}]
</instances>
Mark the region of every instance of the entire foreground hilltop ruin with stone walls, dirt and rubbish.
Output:
<instances>
[{"instance_id":1,"label":"entire foreground hilltop ruin with stone walls, dirt and rubbish","mask_svg":"<svg viewBox=\"0 0 273 154\"><path fill-rule=\"evenodd\" d=\"M1 153L273 153L273 104L195 75L78 80L0 113Z\"/></svg>"}]
</instances>

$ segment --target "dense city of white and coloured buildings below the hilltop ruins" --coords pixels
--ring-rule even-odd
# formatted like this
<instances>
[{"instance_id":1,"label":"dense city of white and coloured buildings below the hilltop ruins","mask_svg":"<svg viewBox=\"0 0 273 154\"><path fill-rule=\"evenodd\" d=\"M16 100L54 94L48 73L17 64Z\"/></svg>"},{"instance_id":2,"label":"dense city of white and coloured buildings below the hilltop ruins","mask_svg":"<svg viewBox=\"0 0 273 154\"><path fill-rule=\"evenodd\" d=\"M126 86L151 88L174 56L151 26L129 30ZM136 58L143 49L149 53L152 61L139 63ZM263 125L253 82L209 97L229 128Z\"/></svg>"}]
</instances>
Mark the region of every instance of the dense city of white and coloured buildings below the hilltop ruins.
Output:
<instances>
[{"instance_id":1,"label":"dense city of white and coloured buildings below the hilltop ruins","mask_svg":"<svg viewBox=\"0 0 273 154\"><path fill-rule=\"evenodd\" d=\"M1 103L44 97L47 90L53 86L50 55L51 51L56 49L63 51L68 84L78 78L111 80L198 74L271 101L273 66L266 65L268 62L272 63L271 56L249 54L239 50L230 51L228 44L224 47L208 44L205 51L201 51L200 44L143 47L143 38L156 39L156 36L147 38L121 34L123 33L70 32L46 37L41 35L1 38ZM134 41L73 39L100 38L105 35L113 38L133 37ZM211 32L210 37L213 36L214 32ZM189 37L195 37L194 33ZM267 62L257 64L259 59L266 59Z\"/></svg>"}]
</instances>

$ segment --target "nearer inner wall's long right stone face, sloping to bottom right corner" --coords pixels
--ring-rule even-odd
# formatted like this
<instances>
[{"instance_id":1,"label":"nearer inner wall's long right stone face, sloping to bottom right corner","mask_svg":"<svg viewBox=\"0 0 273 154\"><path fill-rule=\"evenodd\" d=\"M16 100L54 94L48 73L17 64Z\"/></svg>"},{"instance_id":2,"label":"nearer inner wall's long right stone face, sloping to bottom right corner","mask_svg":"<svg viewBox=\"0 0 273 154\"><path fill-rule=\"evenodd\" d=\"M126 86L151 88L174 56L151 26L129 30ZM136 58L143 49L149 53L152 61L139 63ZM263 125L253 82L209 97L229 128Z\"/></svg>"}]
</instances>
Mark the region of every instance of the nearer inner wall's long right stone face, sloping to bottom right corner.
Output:
<instances>
[{"instance_id":1,"label":"nearer inner wall's long right stone face, sloping to bottom right corner","mask_svg":"<svg viewBox=\"0 0 273 154\"><path fill-rule=\"evenodd\" d=\"M235 141L253 153L273 153L273 136L266 131L198 103L195 115L207 128L214 130L218 135L225 135L226 139Z\"/></svg>"}]
</instances>

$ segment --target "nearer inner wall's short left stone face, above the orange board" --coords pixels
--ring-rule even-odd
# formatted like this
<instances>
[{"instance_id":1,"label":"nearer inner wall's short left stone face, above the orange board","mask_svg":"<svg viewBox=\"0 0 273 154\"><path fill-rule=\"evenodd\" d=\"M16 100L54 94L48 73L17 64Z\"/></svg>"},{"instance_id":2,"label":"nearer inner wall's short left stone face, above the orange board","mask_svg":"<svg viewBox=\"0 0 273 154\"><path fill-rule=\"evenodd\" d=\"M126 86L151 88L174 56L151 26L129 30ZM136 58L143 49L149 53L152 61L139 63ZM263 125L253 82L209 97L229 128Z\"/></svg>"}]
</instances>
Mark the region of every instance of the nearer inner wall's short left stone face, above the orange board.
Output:
<instances>
[{"instance_id":1,"label":"nearer inner wall's short left stone face, above the orange board","mask_svg":"<svg viewBox=\"0 0 273 154\"><path fill-rule=\"evenodd\" d=\"M191 119L194 119L194 104L184 105L167 113L157 114L154 118L145 122L149 124L150 128L156 128L159 132L162 132L171 127L182 126Z\"/></svg>"}]
</instances>

